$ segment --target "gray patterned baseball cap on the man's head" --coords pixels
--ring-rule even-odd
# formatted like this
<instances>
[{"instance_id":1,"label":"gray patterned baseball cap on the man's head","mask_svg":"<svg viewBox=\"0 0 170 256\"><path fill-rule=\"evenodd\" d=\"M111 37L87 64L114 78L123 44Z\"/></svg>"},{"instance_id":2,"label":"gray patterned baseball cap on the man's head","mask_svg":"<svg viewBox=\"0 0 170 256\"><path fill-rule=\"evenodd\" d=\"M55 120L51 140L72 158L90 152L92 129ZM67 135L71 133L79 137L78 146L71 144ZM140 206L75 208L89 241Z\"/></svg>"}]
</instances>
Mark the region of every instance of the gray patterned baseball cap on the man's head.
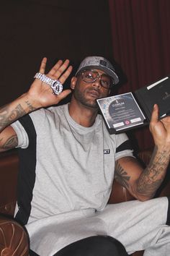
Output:
<instances>
[{"instance_id":1,"label":"gray patterned baseball cap on the man's head","mask_svg":"<svg viewBox=\"0 0 170 256\"><path fill-rule=\"evenodd\" d=\"M117 74L115 73L115 69L112 66L112 64L107 59L100 56L86 57L83 61L81 61L81 64L76 74L78 74L80 71L83 71L84 69L91 69L91 68L100 69L104 71L106 74L112 77L114 85L116 85L119 82L119 78L117 77Z\"/></svg>"}]
</instances>

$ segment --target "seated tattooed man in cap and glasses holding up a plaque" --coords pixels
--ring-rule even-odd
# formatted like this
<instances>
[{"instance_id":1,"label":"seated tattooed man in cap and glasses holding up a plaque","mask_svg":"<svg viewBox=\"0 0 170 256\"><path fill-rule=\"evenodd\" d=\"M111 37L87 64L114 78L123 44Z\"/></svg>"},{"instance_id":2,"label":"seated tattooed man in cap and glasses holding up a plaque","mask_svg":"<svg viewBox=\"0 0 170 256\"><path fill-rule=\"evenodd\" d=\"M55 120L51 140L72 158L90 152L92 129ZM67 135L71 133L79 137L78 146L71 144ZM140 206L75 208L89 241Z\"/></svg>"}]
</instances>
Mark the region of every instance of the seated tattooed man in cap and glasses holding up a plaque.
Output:
<instances>
[{"instance_id":1,"label":"seated tattooed man in cap and glasses holding up a plaque","mask_svg":"<svg viewBox=\"0 0 170 256\"><path fill-rule=\"evenodd\" d=\"M152 198L169 165L170 117L158 120L154 106L155 149L143 170L127 135L110 135L98 114L97 99L119 81L112 64L84 59L71 79L71 103L54 106L71 93L63 83L72 67L59 60L45 74L46 61L30 90L0 108L1 151L16 147L21 161L15 218L32 251L114 256L145 249L145 255L168 256L169 198ZM107 205L113 179L137 200Z\"/></svg>"}]
</instances>

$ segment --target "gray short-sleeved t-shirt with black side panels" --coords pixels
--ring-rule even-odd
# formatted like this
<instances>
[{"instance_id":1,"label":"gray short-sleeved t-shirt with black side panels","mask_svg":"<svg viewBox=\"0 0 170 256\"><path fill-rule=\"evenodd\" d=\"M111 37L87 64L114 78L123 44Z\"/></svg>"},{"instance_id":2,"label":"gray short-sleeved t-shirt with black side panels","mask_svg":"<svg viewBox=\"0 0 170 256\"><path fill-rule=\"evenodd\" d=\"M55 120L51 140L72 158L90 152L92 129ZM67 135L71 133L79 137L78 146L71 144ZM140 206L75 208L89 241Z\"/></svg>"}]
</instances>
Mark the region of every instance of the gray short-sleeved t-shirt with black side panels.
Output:
<instances>
[{"instance_id":1,"label":"gray short-sleeved t-shirt with black side panels","mask_svg":"<svg viewBox=\"0 0 170 256\"><path fill-rule=\"evenodd\" d=\"M104 209L115 160L133 156L123 147L128 137L109 135L100 115L92 127L82 127L69 115L68 104L41 108L23 119L12 124L24 155L16 216L27 224L50 216L61 218L63 213Z\"/></svg>"}]
</instances>

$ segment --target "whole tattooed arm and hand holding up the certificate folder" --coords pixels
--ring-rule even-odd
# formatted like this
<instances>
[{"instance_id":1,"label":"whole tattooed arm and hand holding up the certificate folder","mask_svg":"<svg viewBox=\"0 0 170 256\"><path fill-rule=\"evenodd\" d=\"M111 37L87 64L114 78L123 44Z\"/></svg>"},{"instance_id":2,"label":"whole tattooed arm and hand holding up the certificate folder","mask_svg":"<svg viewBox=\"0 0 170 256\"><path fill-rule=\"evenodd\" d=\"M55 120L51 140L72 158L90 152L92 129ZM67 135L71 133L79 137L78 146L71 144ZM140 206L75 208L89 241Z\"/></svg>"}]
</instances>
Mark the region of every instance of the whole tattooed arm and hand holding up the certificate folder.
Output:
<instances>
[{"instance_id":1,"label":"whole tattooed arm and hand holding up the certificate folder","mask_svg":"<svg viewBox=\"0 0 170 256\"><path fill-rule=\"evenodd\" d=\"M116 161L115 179L138 200L148 200L155 195L163 182L170 159L170 117L158 120L158 106L154 106L150 130L155 148L150 163L143 170L135 158Z\"/></svg>"}]
</instances>

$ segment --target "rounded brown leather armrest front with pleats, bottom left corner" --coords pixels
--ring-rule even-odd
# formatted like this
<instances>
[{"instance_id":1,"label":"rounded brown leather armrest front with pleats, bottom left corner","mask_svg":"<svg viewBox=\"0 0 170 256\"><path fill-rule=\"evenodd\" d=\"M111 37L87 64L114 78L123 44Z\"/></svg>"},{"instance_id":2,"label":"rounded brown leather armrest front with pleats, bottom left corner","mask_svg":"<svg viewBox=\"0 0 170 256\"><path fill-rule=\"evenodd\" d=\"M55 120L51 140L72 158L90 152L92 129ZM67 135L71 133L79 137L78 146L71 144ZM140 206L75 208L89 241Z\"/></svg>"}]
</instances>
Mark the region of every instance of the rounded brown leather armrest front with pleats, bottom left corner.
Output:
<instances>
[{"instance_id":1,"label":"rounded brown leather armrest front with pleats, bottom left corner","mask_svg":"<svg viewBox=\"0 0 170 256\"><path fill-rule=\"evenodd\" d=\"M0 216L0 255L29 255L27 231L17 221L6 216Z\"/></svg>"}]
</instances>

